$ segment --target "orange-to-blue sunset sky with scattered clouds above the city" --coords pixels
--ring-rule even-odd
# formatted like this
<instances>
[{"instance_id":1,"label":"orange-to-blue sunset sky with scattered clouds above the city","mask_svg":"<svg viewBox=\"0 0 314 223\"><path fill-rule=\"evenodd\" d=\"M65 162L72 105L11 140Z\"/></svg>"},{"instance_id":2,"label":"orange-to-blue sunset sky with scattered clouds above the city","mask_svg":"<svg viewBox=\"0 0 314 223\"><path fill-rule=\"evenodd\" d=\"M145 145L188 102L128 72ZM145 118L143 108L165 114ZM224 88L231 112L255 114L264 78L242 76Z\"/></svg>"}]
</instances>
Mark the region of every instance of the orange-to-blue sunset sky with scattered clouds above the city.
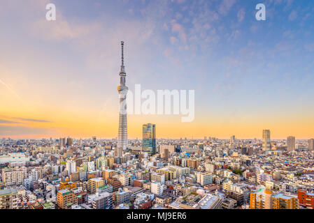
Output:
<instances>
[{"instance_id":1,"label":"orange-to-blue sunset sky with scattered clouds above the city","mask_svg":"<svg viewBox=\"0 0 314 223\"><path fill-rule=\"evenodd\" d=\"M314 137L314 1L0 0L0 29L0 137L117 137L121 40L131 91L195 91L194 121L130 139Z\"/></svg>"}]
</instances>

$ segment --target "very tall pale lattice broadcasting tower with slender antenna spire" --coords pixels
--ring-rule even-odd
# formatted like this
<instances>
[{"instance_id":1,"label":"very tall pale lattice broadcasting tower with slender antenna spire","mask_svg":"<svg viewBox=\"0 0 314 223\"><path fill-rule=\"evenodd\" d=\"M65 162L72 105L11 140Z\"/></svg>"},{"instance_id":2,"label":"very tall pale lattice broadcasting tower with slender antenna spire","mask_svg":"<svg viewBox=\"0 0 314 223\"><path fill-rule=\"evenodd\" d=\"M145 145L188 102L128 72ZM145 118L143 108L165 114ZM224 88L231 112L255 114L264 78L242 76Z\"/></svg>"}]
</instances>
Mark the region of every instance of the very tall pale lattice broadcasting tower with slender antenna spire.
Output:
<instances>
[{"instance_id":1,"label":"very tall pale lattice broadcasting tower with slender antenna spire","mask_svg":"<svg viewBox=\"0 0 314 223\"><path fill-rule=\"evenodd\" d=\"M122 63L120 70L120 86L117 87L119 92L119 131L117 134L117 148L119 150L127 149L127 91L125 86L125 77L127 76L124 70L124 55L123 55L124 42L121 42ZM121 154L121 153L118 153Z\"/></svg>"}]
</instances>

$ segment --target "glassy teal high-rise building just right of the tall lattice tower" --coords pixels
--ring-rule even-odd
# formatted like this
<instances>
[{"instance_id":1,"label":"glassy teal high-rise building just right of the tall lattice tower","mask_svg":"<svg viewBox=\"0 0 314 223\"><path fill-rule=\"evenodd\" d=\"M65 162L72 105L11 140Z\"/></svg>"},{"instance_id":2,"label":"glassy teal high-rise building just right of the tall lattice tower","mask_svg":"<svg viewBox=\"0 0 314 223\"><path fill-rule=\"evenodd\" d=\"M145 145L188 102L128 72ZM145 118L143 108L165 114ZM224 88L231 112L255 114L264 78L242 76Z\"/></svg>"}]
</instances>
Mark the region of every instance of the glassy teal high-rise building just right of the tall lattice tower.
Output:
<instances>
[{"instance_id":1,"label":"glassy teal high-rise building just right of the tall lattice tower","mask_svg":"<svg viewBox=\"0 0 314 223\"><path fill-rule=\"evenodd\" d=\"M156 153L156 125L144 124L143 125L143 151L150 154Z\"/></svg>"}]
</instances>

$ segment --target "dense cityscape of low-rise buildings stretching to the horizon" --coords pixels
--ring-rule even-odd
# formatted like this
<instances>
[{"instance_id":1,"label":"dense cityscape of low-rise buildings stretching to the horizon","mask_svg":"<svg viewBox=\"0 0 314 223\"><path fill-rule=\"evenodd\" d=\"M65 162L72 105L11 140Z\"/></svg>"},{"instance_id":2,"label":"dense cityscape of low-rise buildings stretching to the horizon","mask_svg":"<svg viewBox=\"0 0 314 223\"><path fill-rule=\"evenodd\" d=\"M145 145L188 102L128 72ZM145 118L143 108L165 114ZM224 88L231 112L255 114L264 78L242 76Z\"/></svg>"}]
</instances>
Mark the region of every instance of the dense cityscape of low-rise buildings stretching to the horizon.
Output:
<instances>
[{"instance_id":1,"label":"dense cityscape of low-rise buildings stretching to the horizon","mask_svg":"<svg viewBox=\"0 0 314 223\"><path fill-rule=\"evenodd\" d=\"M117 139L1 139L0 208L313 208L314 139L155 143L155 128L120 156Z\"/></svg>"}]
</instances>

